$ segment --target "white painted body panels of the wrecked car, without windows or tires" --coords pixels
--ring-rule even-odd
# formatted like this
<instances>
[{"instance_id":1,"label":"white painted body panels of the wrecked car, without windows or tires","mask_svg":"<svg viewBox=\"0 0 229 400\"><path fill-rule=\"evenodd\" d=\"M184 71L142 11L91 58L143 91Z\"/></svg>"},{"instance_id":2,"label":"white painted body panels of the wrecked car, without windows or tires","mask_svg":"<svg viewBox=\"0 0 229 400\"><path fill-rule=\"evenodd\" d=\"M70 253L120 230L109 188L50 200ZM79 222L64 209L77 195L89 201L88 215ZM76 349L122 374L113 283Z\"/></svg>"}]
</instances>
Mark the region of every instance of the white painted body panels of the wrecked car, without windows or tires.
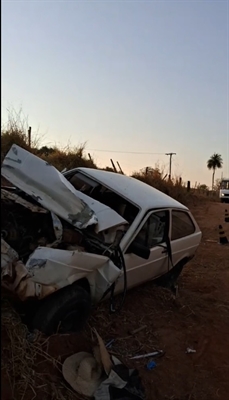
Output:
<instances>
[{"instance_id":1,"label":"white painted body panels of the wrecked car, without windows or tires","mask_svg":"<svg viewBox=\"0 0 229 400\"><path fill-rule=\"evenodd\" d=\"M111 208L77 191L65 178L74 171L80 171L139 209L120 243L126 263L128 288L155 279L172 268L168 254L162 247L165 243L150 249L148 260L126 253L151 213L159 210L170 212L170 236L172 210L188 213L195 226L195 232L171 241L173 265L194 255L201 240L201 232L188 208L143 182L124 175L87 168L77 168L62 175L54 167L15 145L7 154L2 167L2 175L6 179L35 197L42 207L53 213L53 223L55 215L58 215L81 229L89 225L94 225L97 232L109 228L114 238L116 228L123 227L127 221ZM77 215L74 223L69 214ZM13 264L13 261L9 263ZM19 264L16 266L22 268ZM80 251L77 246L73 250L39 247L30 255L22 270L23 274L25 271L28 277L21 280L17 287L18 293L22 293L21 298L29 295L43 298L84 277L90 284L94 302L99 301L114 282L117 282L116 292L123 288L123 271L108 257Z\"/></svg>"}]
</instances>

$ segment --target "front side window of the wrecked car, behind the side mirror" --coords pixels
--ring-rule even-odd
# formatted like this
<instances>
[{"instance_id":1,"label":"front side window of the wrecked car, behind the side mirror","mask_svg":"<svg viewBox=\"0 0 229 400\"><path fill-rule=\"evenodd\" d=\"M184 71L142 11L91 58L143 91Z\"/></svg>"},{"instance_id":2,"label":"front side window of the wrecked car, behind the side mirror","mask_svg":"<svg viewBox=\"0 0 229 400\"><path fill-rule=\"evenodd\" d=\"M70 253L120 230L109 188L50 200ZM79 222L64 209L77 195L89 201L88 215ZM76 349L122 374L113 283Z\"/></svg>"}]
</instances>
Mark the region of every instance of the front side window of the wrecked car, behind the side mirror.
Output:
<instances>
[{"instance_id":1,"label":"front side window of the wrecked car, behind the side mirror","mask_svg":"<svg viewBox=\"0 0 229 400\"><path fill-rule=\"evenodd\" d=\"M134 241L148 248L165 241L168 211L159 211L149 216Z\"/></svg>"}]
</instances>

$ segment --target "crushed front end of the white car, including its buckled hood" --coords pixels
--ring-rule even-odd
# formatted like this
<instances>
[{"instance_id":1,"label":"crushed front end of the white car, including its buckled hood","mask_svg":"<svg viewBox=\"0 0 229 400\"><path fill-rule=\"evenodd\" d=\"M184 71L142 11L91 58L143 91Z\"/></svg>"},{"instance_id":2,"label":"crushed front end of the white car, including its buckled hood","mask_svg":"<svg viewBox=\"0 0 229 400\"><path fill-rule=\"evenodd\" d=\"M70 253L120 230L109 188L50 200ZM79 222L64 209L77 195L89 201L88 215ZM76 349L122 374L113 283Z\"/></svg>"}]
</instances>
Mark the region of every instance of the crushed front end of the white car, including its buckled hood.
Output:
<instances>
[{"instance_id":1,"label":"crushed front end of the white car, including its buckled hood","mask_svg":"<svg viewBox=\"0 0 229 400\"><path fill-rule=\"evenodd\" d=\"M98 302L123 274L127 221L17 145L1 173L14 186L1 190L2 286L23 301L41 300L86 278Z\"/></svg>"}]
</instances>

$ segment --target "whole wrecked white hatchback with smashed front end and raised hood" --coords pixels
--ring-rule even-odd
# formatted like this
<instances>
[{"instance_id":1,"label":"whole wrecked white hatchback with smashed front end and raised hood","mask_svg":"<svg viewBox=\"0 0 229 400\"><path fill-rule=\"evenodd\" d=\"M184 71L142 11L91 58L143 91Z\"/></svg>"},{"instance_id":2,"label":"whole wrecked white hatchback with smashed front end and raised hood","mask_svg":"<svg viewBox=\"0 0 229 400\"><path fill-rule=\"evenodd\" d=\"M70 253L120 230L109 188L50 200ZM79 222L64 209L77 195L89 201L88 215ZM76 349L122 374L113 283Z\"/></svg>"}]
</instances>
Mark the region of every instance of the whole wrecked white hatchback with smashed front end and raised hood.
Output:
<instances>
[{"instance_id":1,"label":"whole wrecked white hatchback with smashed front end and raised hood","mask_svg":"<svg viewBox=\"0 0 229 400\"><path fill-rule=\"evenodd\" d=\"M185 206L134 178L61 174L17 145L1 173L13 185L1 190L2 286L34 300L31 326L47 334L80 328L108 294L113 310L116 293L173 284L200 243Z\"/></svg>"}]
</instances>

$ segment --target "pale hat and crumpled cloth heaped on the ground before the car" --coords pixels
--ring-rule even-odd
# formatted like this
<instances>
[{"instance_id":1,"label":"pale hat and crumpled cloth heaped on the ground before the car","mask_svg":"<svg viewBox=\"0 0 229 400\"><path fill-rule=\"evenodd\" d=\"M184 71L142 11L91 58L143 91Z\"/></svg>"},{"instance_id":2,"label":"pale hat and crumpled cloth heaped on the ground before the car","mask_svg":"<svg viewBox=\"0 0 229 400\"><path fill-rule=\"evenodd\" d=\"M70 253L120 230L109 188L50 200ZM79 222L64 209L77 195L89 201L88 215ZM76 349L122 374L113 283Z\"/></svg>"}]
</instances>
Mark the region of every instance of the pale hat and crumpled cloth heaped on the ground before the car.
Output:
<instances>
[{"instance_id":1,"label":"pale hat and crumpled cloth heaped on the ground before the car","mask_svg":"<svg viewBox=\"0 0 229 400\"><path fill-rule=\"evenodd\" d=\"M94 347L93 354L79 352L68 357L62 366L65 380L77 393L95 400L144 400L137 370L129 370L116 357L110 357L102 338L94 332L99 346Z\"/></svg>"}]
</instances>

